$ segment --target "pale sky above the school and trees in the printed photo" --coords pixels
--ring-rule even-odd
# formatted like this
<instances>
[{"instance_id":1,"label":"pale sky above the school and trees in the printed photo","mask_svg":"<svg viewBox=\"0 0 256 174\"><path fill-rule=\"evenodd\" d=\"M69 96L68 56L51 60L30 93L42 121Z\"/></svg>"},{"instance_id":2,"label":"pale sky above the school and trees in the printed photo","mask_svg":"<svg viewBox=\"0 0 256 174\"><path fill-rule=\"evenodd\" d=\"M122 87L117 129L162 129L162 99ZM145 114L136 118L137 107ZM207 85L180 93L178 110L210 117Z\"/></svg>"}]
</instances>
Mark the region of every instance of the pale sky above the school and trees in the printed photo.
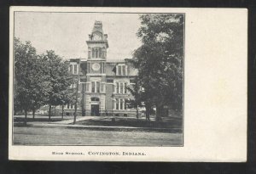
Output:
<instances>
[{"instance_id":1,"label":"pale sky above the school and trees in the printed photo","mask_svg":"<svg viewBox=\"0 0 256 174\"><path fill-rule=\"evenodd\" d=\"M32 42L38 54L54 50L63 59L87 59L86 41L96 20L108 34L107 59L131 59L141 45L138 14L15 12L15 37Z\"/></svg>"}]
</instances>

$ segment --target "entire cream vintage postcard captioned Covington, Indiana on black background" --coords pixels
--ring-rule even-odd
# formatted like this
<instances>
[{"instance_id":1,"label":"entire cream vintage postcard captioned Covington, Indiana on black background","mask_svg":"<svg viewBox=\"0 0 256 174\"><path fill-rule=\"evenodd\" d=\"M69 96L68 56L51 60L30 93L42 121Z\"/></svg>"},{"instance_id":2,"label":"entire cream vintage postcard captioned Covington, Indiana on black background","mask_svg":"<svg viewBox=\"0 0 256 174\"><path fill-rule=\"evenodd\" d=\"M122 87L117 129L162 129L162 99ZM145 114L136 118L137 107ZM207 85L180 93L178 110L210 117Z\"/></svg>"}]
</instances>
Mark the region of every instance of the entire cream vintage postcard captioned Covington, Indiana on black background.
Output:
<instances>
[{"instance_id":1,"label":"entire cream vintage postcard captioned Covington, Indiana on black background","mask_svg":"<svg viewBox=\"0 0 256 174\"><path fill-rule=\"evenodd\" d=\"M247 160L247 9L11 7L9 160Z\"/></svg>"}]
</instances>

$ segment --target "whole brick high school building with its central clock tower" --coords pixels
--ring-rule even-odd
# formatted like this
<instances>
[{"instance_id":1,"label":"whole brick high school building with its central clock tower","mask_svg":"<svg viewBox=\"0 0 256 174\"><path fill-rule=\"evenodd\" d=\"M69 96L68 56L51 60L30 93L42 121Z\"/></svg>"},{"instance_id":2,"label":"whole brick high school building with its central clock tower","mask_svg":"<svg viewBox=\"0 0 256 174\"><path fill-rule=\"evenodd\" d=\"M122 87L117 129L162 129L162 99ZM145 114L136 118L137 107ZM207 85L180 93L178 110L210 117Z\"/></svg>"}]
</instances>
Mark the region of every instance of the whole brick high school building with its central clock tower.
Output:
<instances>
[{"instance_id":1,"label":"whole brick high school building with its central clock tower","mask_svg":"<svg viewBox=\"0 0 256 174\"><path fill-rule=\"evenodd\" d=\"M108 35L103 33L102 22L95 22L86 43L87 59L68 62L74 79L71 87L75 89L79 84L79 115L134 115L136 110L127 107L127 100L132 98L127 87L131 87L137 70L127 59L108 59ZM64 109L72 114L74 104L67 104Z\"/></svg>"}]
</instances>

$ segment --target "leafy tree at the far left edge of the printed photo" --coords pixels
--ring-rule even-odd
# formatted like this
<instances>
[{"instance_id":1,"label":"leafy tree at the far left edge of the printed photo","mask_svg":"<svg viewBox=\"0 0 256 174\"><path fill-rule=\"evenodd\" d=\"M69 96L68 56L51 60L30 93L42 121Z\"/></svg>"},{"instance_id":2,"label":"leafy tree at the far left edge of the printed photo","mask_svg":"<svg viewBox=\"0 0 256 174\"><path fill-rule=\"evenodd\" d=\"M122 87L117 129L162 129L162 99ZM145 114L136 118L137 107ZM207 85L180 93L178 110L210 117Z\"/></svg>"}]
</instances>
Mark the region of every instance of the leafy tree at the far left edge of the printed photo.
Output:
<instances>
[{"instance_id":1,"label":"leafy tree at the far left edge of the printed photo","mask_svg":"<svg viewBox=\"0 0 256 174\"><path fill-rule=\"evenodd\" d=\"M33 118L37 109L44 100L44 88L48 86L44 76L44 66L38 59L36 49L31 42L23 44L15 38L15 109L27 112L32 109Z\"/></svg>"}]
</instances>

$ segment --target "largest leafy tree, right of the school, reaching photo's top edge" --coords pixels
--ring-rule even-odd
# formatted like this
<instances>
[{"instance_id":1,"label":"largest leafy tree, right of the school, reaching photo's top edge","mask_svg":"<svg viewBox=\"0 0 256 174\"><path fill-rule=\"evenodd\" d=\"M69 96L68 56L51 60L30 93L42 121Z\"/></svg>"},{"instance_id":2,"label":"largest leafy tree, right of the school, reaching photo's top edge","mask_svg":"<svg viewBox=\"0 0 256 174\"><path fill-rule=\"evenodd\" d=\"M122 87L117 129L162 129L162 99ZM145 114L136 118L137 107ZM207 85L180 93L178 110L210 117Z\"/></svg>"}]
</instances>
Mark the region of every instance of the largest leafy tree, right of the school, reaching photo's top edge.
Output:
<instances>
[{"instance_id":1,"label":"largest leafy tree, right of the school, reaching photo's top edge","mask_svg":"<svg viewBox=\"0 0 256 174\"><path fill-rule=\"evenodd\" d=\"M182 109L183 14L143 14L140 20L143 44L133 53L133 65L147 93L143 100L155 105L159 121L165 104Z\"/></svg>"}]
</instances>

